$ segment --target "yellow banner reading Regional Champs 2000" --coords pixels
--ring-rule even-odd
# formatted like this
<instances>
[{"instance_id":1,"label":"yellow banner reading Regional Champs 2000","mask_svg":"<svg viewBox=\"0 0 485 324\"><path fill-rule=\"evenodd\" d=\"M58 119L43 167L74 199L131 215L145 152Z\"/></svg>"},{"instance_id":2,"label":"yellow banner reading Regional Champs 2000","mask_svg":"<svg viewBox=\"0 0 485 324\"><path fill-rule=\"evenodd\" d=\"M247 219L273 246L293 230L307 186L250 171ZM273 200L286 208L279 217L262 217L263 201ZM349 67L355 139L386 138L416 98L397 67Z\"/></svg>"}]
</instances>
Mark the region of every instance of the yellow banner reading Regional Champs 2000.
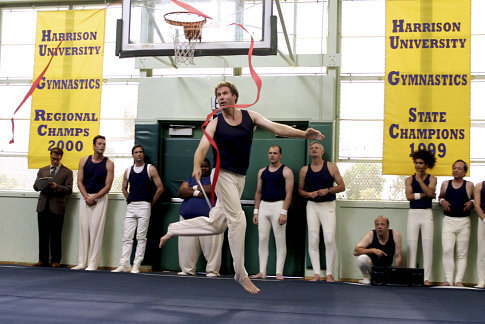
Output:
<instances>
[{"instance_id":1,"label":"yellow banner reading Regional Champs 2000","mask_svg":"<svg viewBox=\"0 0 485 324\"><path fill-rule=\"evenodd\" d=\"M99 133L106 10L39 11L32 94L29 168L50 163L53 147L77 169ZM56 50L57 49L57 50Z\"/></svg>"}]
</instances>

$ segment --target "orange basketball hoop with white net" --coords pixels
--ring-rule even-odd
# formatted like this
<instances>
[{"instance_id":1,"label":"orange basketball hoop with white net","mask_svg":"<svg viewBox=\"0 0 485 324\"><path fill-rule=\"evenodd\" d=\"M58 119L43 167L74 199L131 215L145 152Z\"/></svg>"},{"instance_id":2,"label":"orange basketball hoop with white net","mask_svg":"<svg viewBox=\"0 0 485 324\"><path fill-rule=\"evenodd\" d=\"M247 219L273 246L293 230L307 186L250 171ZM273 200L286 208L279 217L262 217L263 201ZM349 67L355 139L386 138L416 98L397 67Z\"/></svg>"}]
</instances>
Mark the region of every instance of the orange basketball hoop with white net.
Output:
<instances>
[{"instance_id":1,"label":"orange basketball hoop with white net","mask_svg":"<svg viewBox=\"0 0 485 324\"><path fill-rule=\"evenodd\" d=\"M202 39L202 25L206 18L188 11L166 13L165 21L173 27L173 46L175 50L175 64L194 64L195 42ZM183 27L184 38L180 36Z\"/></svg>"}]
</instances>

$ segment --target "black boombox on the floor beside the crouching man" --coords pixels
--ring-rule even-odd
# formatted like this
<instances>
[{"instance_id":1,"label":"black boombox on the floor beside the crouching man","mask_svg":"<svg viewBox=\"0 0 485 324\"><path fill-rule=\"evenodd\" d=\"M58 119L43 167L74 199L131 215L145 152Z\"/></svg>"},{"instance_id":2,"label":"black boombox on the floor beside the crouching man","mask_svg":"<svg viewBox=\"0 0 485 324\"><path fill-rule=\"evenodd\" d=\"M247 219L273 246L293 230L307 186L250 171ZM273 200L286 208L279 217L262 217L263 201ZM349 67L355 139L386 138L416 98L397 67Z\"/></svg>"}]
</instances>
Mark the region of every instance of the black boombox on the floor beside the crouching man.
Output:
<instances>
[{"instance_id":1,"label":"black boombox on the floor beside the crouching man","mask_svg":"<svg viewBox=\"0 0 485 324\"><path fill-rule=\"evenodd\" d=\"M371 285L399 285L420 287L424 285L424 270L399 267L372 267Z\"/></svg>"}]
</instances>

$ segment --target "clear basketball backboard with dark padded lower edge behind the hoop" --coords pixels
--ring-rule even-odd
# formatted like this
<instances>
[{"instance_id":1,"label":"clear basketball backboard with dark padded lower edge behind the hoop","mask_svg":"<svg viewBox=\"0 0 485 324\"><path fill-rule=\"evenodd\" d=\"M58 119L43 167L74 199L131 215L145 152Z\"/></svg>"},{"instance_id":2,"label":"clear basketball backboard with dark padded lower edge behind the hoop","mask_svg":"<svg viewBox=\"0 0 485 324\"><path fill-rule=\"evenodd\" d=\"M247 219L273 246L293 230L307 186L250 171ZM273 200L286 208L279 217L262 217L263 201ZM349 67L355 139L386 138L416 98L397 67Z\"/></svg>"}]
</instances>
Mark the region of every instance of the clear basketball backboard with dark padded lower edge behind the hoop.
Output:
<instances>
[{"instance_id":1,"label":"clear basketball backboard with dark padded lower edge behind the hoop","mask_svg":"<svg viewBox=\"0 0 485 324\"><path fill-rule=\"evenodd\" d=\"M272 0L181 0L211 17L202 26L195 56L247 54L251 37L254 55L276 54L276 17ZM171 0L123 0L118 21L117 55L173 56L174 26L165 16L187 10ZM241 24L248 31L235 25Z\"/></svg>"}]
</instances>

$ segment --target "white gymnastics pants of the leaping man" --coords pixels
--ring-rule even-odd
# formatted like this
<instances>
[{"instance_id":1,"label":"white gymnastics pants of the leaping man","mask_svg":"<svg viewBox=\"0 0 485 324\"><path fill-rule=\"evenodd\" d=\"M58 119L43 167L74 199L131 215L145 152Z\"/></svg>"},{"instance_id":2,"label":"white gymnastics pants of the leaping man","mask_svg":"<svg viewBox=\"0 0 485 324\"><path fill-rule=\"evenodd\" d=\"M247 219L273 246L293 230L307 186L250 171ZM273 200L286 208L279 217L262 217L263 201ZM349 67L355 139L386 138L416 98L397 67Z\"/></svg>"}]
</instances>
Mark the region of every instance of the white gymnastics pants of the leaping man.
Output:
<instances>
[{"instance_id":1,"label":"white gymnastics pants of the leaping man","mask_svg":"<svg viewBox=\"0 0 485 324\"><path fill-rule=\"evenodd\" d=\"M209 217L196 217L168 227L172 236L201 236L224 233L229 228L228 239L234 260L234 279L242 283L248 273L244 268L244 243L246 237L246 215L241 207L245 176L224 169L220 170L215 193L217 203Z\"/></svg>"}]
</instances>

